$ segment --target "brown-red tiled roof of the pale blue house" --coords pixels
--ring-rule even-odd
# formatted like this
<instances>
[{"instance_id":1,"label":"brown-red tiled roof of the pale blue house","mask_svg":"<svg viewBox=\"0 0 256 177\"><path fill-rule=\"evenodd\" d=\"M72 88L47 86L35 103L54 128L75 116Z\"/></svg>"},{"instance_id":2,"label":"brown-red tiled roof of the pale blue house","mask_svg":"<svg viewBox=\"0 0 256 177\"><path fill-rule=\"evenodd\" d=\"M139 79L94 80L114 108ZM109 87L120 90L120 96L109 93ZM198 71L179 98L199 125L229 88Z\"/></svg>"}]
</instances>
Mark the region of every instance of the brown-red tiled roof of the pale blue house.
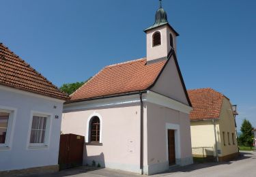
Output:
<instances>
[{"instance_id":1,"label":"brown-red tiled roof of the pale blue house","mask_svg":"<svg viewBox=\"0 0 256 177\"><path fill-rule=\"evenodd\" d=\"M68 100L68 95L0 43L0 85Z\"/></svg>"}]
</instances>

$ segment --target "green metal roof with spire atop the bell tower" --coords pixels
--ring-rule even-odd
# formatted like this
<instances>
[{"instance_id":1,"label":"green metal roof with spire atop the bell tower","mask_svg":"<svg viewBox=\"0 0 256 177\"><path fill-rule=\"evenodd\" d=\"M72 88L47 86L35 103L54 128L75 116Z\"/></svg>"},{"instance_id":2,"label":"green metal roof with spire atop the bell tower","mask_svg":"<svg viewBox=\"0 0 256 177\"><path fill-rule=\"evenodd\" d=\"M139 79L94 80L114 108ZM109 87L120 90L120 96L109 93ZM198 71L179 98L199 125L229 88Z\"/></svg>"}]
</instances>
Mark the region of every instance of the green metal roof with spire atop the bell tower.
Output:
<instances>
[{"instance_id":1,"label":"green metal roof with spire atop the bell tower","mask_svg":"<svg viewBox=\"0 0 256 177\"><path fill-rule=\"evenodd\" d=\"M165 12L165 10L162 8L162 0L159 0L159 8L156 11L156 20L154 22L154 25L152 25L151 27L148 27L147 29L145 29L144 31L148 31L150 29L154 29L156 27L160 27L162 25L169 25L169 22L167 20L167 13ZM169 27L171 27L171 25L169 25ZM171 29L176 33L176 35L179 35L172 27Z\"/></svg>"}]
</instances>

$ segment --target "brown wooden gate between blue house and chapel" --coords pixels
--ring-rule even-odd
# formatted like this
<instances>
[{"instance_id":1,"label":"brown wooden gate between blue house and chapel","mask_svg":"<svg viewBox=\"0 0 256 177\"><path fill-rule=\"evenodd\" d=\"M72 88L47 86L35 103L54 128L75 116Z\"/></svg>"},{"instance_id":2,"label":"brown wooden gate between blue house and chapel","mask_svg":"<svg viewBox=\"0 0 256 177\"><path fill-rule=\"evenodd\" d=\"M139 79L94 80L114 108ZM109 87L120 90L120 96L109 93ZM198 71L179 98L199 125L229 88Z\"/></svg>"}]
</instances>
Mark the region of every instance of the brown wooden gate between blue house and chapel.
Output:
<instances>
[{"instance_id":1,"label":"brown wooden gate between blue house and chapel","mask_svg":"<svg viewBox=\"0 0 256 177\"><path fill-rule=\"evenodd\" d=\"M61 135L59 142L60 170L83 165L83 146L85 137L81 135Z\"/></svg>"}]
</instances>

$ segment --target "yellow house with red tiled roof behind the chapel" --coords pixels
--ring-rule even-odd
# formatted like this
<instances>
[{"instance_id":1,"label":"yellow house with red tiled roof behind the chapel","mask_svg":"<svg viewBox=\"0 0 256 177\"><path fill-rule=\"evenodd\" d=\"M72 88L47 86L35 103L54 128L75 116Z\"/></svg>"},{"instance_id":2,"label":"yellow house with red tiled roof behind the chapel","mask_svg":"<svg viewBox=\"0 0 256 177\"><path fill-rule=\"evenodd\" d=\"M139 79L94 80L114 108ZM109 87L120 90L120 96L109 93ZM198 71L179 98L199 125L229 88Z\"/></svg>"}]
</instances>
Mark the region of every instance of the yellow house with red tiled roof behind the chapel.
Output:
<instances>
[{"instance_id":1,"label":"yellow house with red tiled roof behind the chapel","mask_svg":"<svg viewBox=\"0 0 256 177\"><path fill-rule=\"evenodd\" d=\"M217 157L226 161L238 156L236 110L227 97L212 88L188 91L193 111L190 129L193 155ZM199 151L199 148L204 150Z\"/></svg>"}]
</instances>

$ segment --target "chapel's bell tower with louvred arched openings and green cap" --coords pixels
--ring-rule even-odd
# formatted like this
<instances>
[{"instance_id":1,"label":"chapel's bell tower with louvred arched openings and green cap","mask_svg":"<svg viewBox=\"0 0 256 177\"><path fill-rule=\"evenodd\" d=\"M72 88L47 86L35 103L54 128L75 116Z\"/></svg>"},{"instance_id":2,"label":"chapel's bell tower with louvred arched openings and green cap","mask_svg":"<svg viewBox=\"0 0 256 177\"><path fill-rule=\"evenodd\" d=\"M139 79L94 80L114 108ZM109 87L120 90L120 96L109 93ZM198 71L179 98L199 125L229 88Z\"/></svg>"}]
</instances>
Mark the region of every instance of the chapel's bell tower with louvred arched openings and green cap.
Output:
<instances>
[{"instance_id":1,"label":"chapel's bell tower with louvred arched openings and green cap","mask_svg":"<svg viewBox=\"0 0 256 177\"><path fill-rule=\"evenodd\" d=\"M147 63L156 59L167 59L171 48L176 52L176 37L179 34L169 25L167 13L162 8L162 0L159 0L155 18L154 25L144 30L147 35Z\"/></svg>"}]
</instances>

